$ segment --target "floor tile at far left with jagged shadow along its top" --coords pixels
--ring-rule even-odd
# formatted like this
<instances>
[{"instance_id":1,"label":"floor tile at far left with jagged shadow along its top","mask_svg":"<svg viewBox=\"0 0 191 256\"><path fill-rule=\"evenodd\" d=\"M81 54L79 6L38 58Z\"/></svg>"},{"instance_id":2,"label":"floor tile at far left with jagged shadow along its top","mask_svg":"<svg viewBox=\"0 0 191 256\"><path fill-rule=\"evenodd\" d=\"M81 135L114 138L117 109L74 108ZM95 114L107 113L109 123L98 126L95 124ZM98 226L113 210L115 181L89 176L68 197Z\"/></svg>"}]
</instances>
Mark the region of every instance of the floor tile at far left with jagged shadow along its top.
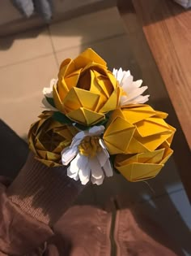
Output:
<instances>
[{"instance_id":1,"label":"floor tile at far left with jagged shadow along its top","mask_svg":"<svg viewBox=\"0 0 191 256\"><path fill-rule=\"evenodd\" d=\"M53 52L47 28L0 39L0 67Z\"/></svg>"}]
</instances>

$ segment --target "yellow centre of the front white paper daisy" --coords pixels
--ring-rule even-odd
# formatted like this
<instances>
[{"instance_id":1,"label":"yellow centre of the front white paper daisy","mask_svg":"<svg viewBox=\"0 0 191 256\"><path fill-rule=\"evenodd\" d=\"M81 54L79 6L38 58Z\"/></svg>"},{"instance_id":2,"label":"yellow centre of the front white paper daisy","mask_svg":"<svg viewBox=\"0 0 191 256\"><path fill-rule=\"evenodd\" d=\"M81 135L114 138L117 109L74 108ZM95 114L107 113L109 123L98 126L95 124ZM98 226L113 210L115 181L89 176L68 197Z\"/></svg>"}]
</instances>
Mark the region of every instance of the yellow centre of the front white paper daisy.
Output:
<instances>
[{"instance_id":1,"label":"yellow centre of the front white paper daisy","mask_svg":"<svg viewBox=\"0 0 191 256\"><path fill-rule=\"evenodd\" d=\"M100 137L85 137L79 144L79 153L93 158L101 150Z\"/></svg>"}]
</instances>

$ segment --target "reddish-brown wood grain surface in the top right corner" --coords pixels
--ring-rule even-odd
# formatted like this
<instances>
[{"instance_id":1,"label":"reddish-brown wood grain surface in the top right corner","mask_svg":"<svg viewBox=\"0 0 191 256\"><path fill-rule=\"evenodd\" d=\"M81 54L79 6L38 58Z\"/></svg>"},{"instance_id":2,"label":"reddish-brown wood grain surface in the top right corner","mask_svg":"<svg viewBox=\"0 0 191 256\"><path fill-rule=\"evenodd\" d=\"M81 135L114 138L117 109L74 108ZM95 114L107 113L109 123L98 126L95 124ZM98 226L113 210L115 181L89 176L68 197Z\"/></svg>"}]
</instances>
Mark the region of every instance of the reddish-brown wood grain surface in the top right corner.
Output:
<instances>
[{"instance_id":1,"label":"reddish-brown wood grain surface in the top right corner","mask_svg":"<svg viewBox=\"0 0 191 256\"><path fill-rule=\"evenodd\" d=\"M191 148L191 11L169 0L133 0Z\"/></svg>"}]
</instances>

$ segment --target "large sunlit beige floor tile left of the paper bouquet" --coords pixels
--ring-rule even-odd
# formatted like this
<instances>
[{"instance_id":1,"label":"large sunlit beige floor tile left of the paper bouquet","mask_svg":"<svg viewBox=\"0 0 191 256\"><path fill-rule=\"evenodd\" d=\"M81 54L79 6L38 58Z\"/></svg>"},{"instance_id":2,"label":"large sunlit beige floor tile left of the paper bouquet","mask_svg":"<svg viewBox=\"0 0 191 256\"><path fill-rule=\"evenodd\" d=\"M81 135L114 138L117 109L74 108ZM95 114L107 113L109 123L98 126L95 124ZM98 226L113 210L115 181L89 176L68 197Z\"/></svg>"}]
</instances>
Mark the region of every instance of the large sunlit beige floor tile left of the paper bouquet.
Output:
<instances>
[{"instance_id":1,"label":"large sunlit beige floor tile left of the paper bouquet","mask_svg":"<svg viewBox=\"0 0 191 256\"><path fill-rule=\"evenodd\" d=\"M42 89L57 75L53 55L0 68L0 116L6 124L26 137L28 128L42 109Z\"/></svg>"}]
</instances>

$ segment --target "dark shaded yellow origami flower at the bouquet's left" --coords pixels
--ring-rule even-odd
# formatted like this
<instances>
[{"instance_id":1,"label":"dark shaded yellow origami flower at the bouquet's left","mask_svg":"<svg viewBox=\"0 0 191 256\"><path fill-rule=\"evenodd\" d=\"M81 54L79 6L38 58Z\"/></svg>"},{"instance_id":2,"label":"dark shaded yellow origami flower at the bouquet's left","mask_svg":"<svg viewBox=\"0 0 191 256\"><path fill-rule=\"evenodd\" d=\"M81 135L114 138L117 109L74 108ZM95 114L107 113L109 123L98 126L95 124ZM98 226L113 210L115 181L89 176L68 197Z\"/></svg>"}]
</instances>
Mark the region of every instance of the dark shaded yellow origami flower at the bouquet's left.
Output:
<instances>
[{"instance_id":1,"label":"dark shaded yellow origami flower at the bouquet's left","mask_svg":"<svg viewBox=\"0 0 191 256\"><path fill-rule=\"evenodd\" d=\"M32 124L28 144L37 160L49 167L56 167L62 165L61 152L70 145L78 130L57 122L52 115L52 111L44 111L39 116L40 120Z\"/></svg>"}]
</instances>

